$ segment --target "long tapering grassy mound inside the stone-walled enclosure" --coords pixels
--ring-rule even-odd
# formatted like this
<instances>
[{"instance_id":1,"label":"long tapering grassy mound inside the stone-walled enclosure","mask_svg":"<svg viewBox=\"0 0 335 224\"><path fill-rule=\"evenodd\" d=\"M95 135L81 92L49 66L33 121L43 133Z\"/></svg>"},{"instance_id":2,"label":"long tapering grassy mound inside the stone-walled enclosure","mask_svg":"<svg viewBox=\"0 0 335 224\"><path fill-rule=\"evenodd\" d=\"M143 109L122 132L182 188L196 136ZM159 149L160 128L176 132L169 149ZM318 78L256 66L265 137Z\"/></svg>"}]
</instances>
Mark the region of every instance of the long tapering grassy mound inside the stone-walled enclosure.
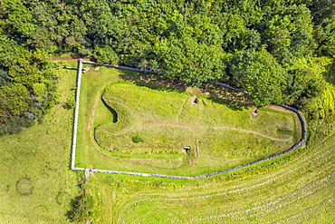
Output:
<instances>
[{"instance_id":1,"label":"long tapering grassy mound inside the stone-walled enclosure","mask_svg":"<svg viewBox=\"0 0 335 224\"><path fill-rule=\"evenodd\" d=\"M283 151L296 139L292 114L260 109L254 117L254 108L235 111L206 94L192 104L191 97L156 84L112 82L102 101L113 118L94 127L94 139L102 153L127 157L138 171L148 171L143 166L177 175L246 163Z\"/></svg>"}]
</instances>

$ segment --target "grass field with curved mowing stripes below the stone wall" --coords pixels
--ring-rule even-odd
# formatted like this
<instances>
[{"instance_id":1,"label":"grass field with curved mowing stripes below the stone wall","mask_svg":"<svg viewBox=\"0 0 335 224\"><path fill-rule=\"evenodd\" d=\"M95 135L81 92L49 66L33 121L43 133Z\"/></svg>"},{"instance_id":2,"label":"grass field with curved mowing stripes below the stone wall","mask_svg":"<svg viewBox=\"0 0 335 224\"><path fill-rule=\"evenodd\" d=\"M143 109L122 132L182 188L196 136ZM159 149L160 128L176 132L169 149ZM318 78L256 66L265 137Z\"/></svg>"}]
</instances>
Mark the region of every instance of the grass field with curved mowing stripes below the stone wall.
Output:
<instances>
[{"instance_id":1,"label":"grass field with curved mowing stripes below the stone wall","mask_svg":"<svg viewBox=\"0 0 335 224\"><path fill-rule=\"evenodd\" d=\"M334 132L314 147L201 182L96 173L91 193L99 223L331 223ZM100 196L98 196L100 195Z\"/></svg>"}]
</instances>

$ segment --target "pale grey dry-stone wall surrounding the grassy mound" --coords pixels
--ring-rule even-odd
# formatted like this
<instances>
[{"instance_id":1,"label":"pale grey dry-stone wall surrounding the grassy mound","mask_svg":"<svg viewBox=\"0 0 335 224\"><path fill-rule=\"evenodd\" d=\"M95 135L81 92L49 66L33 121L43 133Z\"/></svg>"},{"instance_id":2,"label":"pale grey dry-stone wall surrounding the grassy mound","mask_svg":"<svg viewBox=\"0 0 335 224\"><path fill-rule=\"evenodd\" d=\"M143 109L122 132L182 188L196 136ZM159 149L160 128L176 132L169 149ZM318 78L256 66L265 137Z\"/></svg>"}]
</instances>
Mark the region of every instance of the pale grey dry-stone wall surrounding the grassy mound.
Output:
<instances>
[{"instance_id":1,"label":"pale grey dry-stone wall surrounding the grassy mound","mask_svg":"<svg viewBox=\"0 0 335 224\"><path fill-rule=\"evenodd\" d=\"M268 156L268 157L264 157L264 158L262 158L260 160L257 160L257 161L252 161L252 162L245 163L245 164L239 165L239 166L235 166L235 167L232 167L232 168L229 168L229 169L219 170L219 171L216 171L216 172L203 174L203 175L197 175L197 176L193 176L193 177L173 176L173 175L165 175L165 174L158 174L158 173L144 173L144 172L118 171L118 170L100 170L100 169L89 169L89 168L75 167L75 153L76 153L76 144L77 144L77 128L78 128L78 114L79 114L79 102L80 102L82 63L97 64L97 63L84 61L82 59L80 59L78 61L76 107L75 107L75 110L74 110L73 136L72 136L71 170L85 171L85 172L87 172L89 170L91 172L126 174L126 175L132 175L132 176L158 177L158 178L168 178L168 179L178 179L178 180L197 180L197 179L205 179L205 178L213 177L215 175L222 174L222 173L229 172L229 171L233 171L233 170L240 170L242 168L252 166L252 165L260 163L262 161L268 161L268 160L280 157L280 156L282 156L286 153L289 153L290 151L293 151L300 146L304 146L304 144L305 144L304 141L306 140L307 128L306 128L306 122L303 118L302 112L299 112L297 109L295 109L291 106L279 104L279 106L281 106L285 109L288 109L292 112L295 112L298 115L299 120L300 120L301 125L302 125L302 138L301 138L300 141L298 141L297 143L292 145L292 147L290 147L288 150L282 151L280 153L273 154L273 155ZM155 71L140 70L140 69L130 68L130 67L126 67L126 66L116 66L116 65L110 65L110 64L98 64L98 65L113 67L113 68L129 69L129 70L135 70L135 71L140 71L140 72L158 73L158 72L155 72ZM213 83L213 82L209 82L209 83ZM218 84L218 83L216 83L216 84ZM222 84L222 83L220 83L220 84ZM225 87L230 88L231 86L225 85ZM235 89L235 87L233 87L233 88ZM243 90L241 90L240 92L242 92L242 91ZM244 92L242 92L242 93L244 93Z\"/></svg>"}]
</instances>

